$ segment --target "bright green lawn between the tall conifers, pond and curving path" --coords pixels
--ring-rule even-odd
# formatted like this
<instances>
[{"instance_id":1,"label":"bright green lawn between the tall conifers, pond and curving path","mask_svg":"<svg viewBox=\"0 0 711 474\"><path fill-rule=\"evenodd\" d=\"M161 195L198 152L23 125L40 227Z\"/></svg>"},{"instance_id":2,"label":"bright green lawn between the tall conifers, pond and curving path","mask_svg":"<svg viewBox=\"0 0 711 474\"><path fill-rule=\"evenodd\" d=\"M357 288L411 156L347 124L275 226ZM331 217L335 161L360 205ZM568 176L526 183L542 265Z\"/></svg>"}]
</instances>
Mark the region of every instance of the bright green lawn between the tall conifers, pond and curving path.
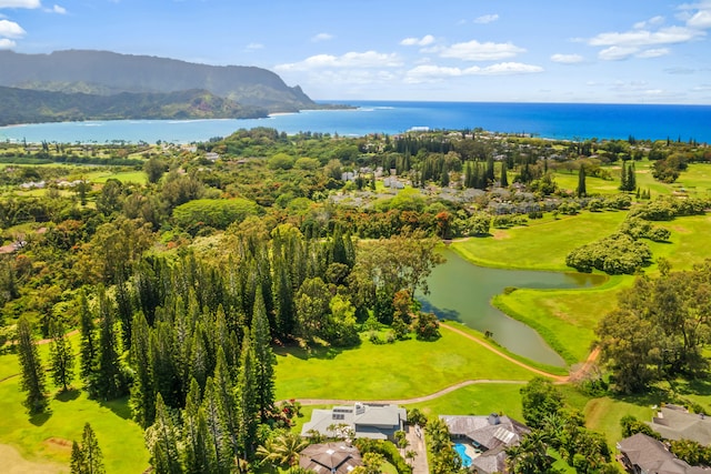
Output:
<instances>
[{"instance_id":1,"label":"bright green lawn between the tall conifers, pond and curving path","mask_svg":"<svg viewBox=\"0 0 711 474\"><path fill-rule=\"evenodd\" d=\"M398 400L428 395L465 380L531 379L531 372L502 360L465 337L441 330L434 342L417 340L360 347L277 351L277 400Z\"/></svg>"}]
</instances>

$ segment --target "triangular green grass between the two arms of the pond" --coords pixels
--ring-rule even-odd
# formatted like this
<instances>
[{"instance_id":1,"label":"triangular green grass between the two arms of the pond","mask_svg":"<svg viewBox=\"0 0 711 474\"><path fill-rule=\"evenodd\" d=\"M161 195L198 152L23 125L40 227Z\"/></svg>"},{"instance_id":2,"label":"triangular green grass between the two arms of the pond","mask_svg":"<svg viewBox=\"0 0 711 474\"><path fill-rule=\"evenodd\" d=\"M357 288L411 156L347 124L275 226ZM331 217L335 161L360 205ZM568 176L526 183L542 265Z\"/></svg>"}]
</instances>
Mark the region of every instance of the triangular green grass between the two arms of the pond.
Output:
<instances>
[{"instance_id":1,"label":"triangular green grass between the two arms of the pond","mask_svg":"<svg viewBox=\"0 0 711 474\"><path fill-rule=\"evenodd\" d=\"M568 364L588 357L594 329L617 306L617 294L632 276L612 276L600 286L581 290L520 289L494 297L494 305L533 327Z\"/></svg>"}]
</instances>

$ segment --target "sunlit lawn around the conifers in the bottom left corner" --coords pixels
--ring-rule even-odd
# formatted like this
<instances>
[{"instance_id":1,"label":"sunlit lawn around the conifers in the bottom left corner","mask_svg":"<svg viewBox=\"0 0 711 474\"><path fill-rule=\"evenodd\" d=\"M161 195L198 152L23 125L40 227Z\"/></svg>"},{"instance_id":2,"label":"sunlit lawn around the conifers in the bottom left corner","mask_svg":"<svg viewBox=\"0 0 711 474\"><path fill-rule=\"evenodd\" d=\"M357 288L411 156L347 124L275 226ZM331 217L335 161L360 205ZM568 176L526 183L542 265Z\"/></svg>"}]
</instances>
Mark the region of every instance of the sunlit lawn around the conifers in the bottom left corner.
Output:
<instances>
[{"instance_id":1,"label":"sunlit lawn around the conifers in the bottom left corner","mask_svg":"<svg viewBox=\"0 0 711 474\"><path fill-rule=\"evenodd\" d=\"M77 347L76 336L72 345ZM40 345L40 356L48 359L49 344ZM16 354L0 356L0 379L19 372ZM51 393L50 411L30 417L22 406L24 393L20 377L0 382L0 444L9 444L30 462L49 462L67 466L71 442L80 441L84 423L90 423L103 452L107 473L139 473L149 465L143 444L143 431L130 420L126 399L100 403L88 400L87 393L73 390L59 394L48 377ZM76 383L74 385L79 385Z\"/></svg>"}]
</instances>

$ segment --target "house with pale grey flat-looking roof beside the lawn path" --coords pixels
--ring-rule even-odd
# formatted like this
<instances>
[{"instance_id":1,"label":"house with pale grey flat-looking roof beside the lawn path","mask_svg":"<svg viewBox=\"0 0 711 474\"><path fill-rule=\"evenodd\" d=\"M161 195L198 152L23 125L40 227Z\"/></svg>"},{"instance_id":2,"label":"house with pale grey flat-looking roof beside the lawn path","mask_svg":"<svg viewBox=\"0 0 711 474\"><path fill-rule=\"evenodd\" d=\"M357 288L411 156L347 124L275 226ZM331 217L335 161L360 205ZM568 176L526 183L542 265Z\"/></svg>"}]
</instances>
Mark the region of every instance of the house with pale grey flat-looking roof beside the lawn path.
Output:
<instances>
[{"instance_id":1,"label":"house with pale grey flat-looking roof beside the lawn path","mask_svg":"<svg viewBox=\"0 0 711 474\"><path fill-rule=\"evenodd\" d=\"M334 437L343 428L352 430L354 437L372 440L395 440L395 432L404 428L408 414L398 405L356 403L334 406L331 410L314 410L311 421L304 423L302 436L309 436L314 430L326 436Z\"/></svg>"}]
</instances>

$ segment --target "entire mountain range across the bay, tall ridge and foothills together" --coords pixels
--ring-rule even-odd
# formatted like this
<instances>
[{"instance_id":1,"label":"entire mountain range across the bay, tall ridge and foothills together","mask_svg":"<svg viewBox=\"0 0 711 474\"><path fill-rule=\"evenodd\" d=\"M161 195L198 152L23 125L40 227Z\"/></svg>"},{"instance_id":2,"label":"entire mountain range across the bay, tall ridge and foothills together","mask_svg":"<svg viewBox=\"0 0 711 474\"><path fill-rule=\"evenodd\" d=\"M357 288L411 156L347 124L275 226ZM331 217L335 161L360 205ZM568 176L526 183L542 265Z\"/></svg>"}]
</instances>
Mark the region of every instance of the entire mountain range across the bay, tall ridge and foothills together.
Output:
<instances>
[{"instance_id":1,"label":"entire mountain range across the bay, tall ridge and foothills together","mask_svg":"<svg viewBox=\"0 0 711 474\"><path fill-rule=\"evenodd\" d=\"M109 51L0 51L0 124L257 118L320 109L269 70Z\"/></svg>"}]
</instances>

